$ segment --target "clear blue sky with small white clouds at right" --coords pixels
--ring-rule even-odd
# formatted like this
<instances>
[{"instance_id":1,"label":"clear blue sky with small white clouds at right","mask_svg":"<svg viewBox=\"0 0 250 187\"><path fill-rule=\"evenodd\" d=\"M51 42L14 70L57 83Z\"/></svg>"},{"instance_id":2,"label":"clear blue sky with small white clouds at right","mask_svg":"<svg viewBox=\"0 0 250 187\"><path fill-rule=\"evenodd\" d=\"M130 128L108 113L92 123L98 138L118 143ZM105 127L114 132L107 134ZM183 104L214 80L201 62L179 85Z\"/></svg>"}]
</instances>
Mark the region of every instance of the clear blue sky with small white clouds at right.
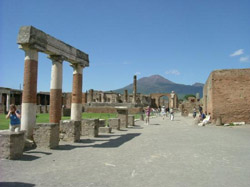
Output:
<instances>
[{"instance_id":1,"label":"clear blue sky with small white clouds at right","mask_svg":"<svg viewBox=\"0 0 250 187\"><path fill-rule=\"evenodd\" d=\"M250 67L249 0L1 0L0 86L23 83L20 26L33 25L89 54L83 91L113 90L159 74L205 83L216 69ZM39 53L38 91L50 89L51 61ZM63 91L72 68L63 64Z\"/></svg>"}]
</instances>

